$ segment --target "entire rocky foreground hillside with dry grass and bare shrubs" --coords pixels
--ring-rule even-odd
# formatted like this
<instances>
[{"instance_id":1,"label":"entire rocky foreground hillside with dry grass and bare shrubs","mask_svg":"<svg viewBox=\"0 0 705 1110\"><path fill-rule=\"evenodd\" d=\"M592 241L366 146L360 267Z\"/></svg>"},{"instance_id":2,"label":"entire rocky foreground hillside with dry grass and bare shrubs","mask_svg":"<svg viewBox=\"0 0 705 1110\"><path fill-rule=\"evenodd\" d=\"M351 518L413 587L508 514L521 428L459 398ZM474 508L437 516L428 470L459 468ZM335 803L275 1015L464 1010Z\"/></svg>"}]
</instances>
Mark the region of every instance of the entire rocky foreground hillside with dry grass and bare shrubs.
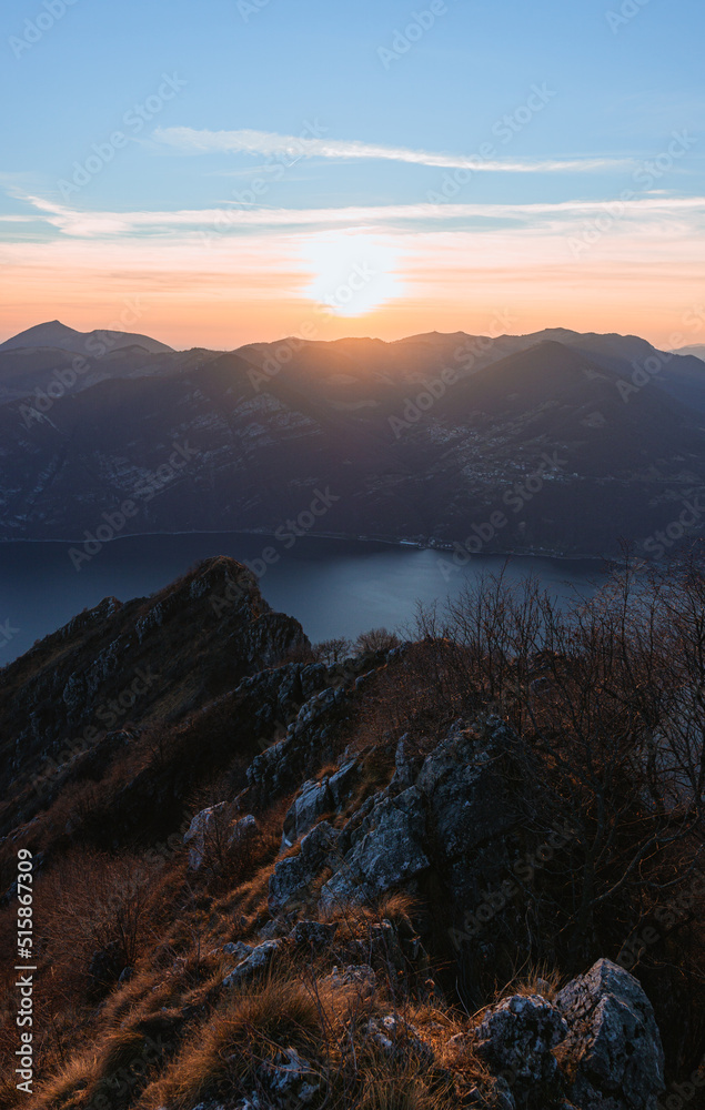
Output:
<instances>
[{"instance_id":1,"label":"entire rocky foreground hillside with dry grass and bare shrubs","mask_svg":"<svg viewBox=\"0 0 705 1110\"><path fill-rule=\"evenodd\" d=\"M443 636L326 666L215 558L6 668L0 936L12 950L31 905L52 1036L18 1051L0 1023L3 1107L27 1104L29 1054L36 1110L656 1110L666 1082L695 1090L703 815L653 740L672 689L698 704L705 577L665 581L644 575L633 620L616 577L580 626L544 609L533 635L490 583ZM687 716L679 771L702 757Z\"/></svg>"}]
</instances>

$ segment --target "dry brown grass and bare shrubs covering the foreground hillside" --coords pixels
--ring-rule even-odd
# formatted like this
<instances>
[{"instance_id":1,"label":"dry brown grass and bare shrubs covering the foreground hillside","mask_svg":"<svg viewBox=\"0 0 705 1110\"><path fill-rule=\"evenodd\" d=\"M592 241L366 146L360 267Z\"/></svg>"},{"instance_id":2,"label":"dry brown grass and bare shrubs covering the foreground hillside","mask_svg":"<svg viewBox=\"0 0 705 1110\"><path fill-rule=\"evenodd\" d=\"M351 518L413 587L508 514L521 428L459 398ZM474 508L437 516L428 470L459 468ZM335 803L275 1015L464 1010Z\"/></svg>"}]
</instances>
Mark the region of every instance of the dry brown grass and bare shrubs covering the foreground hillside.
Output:
<instances>
[{"instance_id":1,"label":"dry brown grass and bare shrubs covering the foreground hillside","mask_svg":"<svg viewBox=\"0 0 705 1110\"><path fill-rule=\"evenodd\" d=\"M540 811L526 801L531 844L556 825L572 835L526 885L521 920L508 910L493 917L494 965L479 971L472 946L454 949L446 929L422 973L380 967L371 996L333 989L330 968L301 953L223 993L232 968L223 945L253 941L270 918L269 879L292 795L256 813L260 836L236 857L223 837L238 815L225 808L207 866L191 874L185 823L204 805L231 801L243 783L246 757L231 750L220 764L213 757L187 811L167 807L159 830L172 834L168 846L154 850L151 815L143 844L114 851L95 842L135 776L165 765L181 774L207 738L211 755L219 745L226 750L236 707L221 698L195 720L142 734L104 780L73 781L11 845L12 852L23 844L51 848L36 891L37 1110L101 1110L101 1093L122 1110L191 1110L207 1096L251 1093L262 1066L276 1066L291 1048L315 1061L313 1110L445 1110L457 1104L447 1074L413 1053L381 1053L367 1032L371 1017L400 1013L434 1043L440 1063L450 1063L442 1046L471 1029L494 998L517 990L552 997L563 978L604 955L626 953L654 1001L669 1078L691 1073L705 1050L705 895L688 896L705 870L702 571L691 562L667 575L637 573L627 561L570 616L534 584L510 591L487 582L441 616L420 612L414 640L370 679L359 710L341 725L336 747L363 753L363 774L331 819L340 823L389 783L402 735L421 758L460 716L479 731L491 715L506 722L517 736L516 797L526 799L526 783L542 787ZM333 767L326 760L312 774ZM376 906L339 907L326 920L338 922L344 951L383 920L399 934L419 929L429 916L423 901L396 892ZM432 905L441 918L441 899ZM12 928L8 906L0 911L8 948ZM111 946L113 970L133 969L127 981L110 970L98 981L90 973L93 953ZM10 985L7 977L11 998ZM14 1037L6 1020L7 1057ZM491 1102L477 1061L452 1063L467 1089L480 1087ZM0 1104L24 1104L12 1077L3 1084Z\"/></svg>"}]
</instances>

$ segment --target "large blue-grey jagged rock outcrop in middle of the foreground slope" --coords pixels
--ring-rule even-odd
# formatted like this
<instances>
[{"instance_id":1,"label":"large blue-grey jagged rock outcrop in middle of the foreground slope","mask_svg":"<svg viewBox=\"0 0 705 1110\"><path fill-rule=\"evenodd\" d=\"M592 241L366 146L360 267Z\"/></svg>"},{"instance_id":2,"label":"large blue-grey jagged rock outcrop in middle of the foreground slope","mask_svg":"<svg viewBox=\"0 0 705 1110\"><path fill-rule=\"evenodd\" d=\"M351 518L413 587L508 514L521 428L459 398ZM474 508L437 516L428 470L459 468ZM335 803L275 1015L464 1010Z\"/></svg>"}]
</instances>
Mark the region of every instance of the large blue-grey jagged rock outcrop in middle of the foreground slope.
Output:
<instances>
[{"instance_id":1,"label":"large blue-grey jagged rock outcrop in middle of the foreground slope","mask_svg":"<svg viewBox=\"0 0 705 1110\"><path fill-rule=\"evenodd\" d=\"M513 741L504 724L491 719L482 735L456 722L425 759L405 749L400 755L397 747L389 788L370 795L340 833L326 834L325 852L313 854L318 838L304 837L298 862L278 865L270 885L271 907L282 907L293 897L299 876L302 888L309 888L316 867L319 872L323 867L333 872L321 889L322 911L374 900L400 887L415 889L414 880L432 865L451 897L467 900L493 874L494 861L503 858L503 838L517 820L498 769L503 759L511 758ZM270 749L258 761L276 758L279 754ZM335 808L335 794L340 806L348 784L360 774L359 761L343 757L334 775L305 783L286 815L283 847Z\"/></svg>"}]
</instances>

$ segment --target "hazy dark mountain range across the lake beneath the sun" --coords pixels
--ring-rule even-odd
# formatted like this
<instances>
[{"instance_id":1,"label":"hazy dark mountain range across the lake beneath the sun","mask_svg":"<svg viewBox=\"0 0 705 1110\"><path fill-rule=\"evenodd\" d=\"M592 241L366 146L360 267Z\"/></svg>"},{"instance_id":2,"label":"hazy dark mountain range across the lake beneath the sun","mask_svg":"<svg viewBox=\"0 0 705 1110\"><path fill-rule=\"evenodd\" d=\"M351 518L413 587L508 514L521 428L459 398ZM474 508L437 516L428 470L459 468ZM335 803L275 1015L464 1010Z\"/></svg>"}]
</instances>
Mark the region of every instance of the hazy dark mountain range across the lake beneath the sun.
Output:
<instances>
[{"instance_id":1,"label":"hazy dark mountain range across the lake beneath the sun","mask_svg":"<svg viewBox=\"0 0 705 1110\"><path fill-rule=\"evenodd\" d=\"M701 527L704 425L705 362L637 336L173 351L53 321L0 345L0 538L305 519L459 558L663 554Z\"/></svg>"}]
</instances>

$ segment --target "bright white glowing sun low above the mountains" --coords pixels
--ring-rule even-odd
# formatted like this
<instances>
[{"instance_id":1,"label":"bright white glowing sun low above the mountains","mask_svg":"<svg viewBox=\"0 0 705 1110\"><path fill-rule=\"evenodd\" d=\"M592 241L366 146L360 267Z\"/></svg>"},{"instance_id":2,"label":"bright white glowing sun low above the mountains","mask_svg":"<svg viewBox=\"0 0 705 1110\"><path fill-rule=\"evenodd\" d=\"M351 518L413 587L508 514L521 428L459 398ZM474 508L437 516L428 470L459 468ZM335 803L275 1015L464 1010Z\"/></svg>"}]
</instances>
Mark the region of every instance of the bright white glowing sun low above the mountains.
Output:
<instances>
[{"instance_id":1,"label":"bright white glowing sun low above the mountains","mask_svg":"<svg viewBox=\"0 0 705 1110\"><path fill-rule=\"evenodd\" d=\"M364 316L402 294L399 252L381 236L321 232L308 240L303 260L312 274L305 295L336 316Z\"/></svg>"}]
</instances>

